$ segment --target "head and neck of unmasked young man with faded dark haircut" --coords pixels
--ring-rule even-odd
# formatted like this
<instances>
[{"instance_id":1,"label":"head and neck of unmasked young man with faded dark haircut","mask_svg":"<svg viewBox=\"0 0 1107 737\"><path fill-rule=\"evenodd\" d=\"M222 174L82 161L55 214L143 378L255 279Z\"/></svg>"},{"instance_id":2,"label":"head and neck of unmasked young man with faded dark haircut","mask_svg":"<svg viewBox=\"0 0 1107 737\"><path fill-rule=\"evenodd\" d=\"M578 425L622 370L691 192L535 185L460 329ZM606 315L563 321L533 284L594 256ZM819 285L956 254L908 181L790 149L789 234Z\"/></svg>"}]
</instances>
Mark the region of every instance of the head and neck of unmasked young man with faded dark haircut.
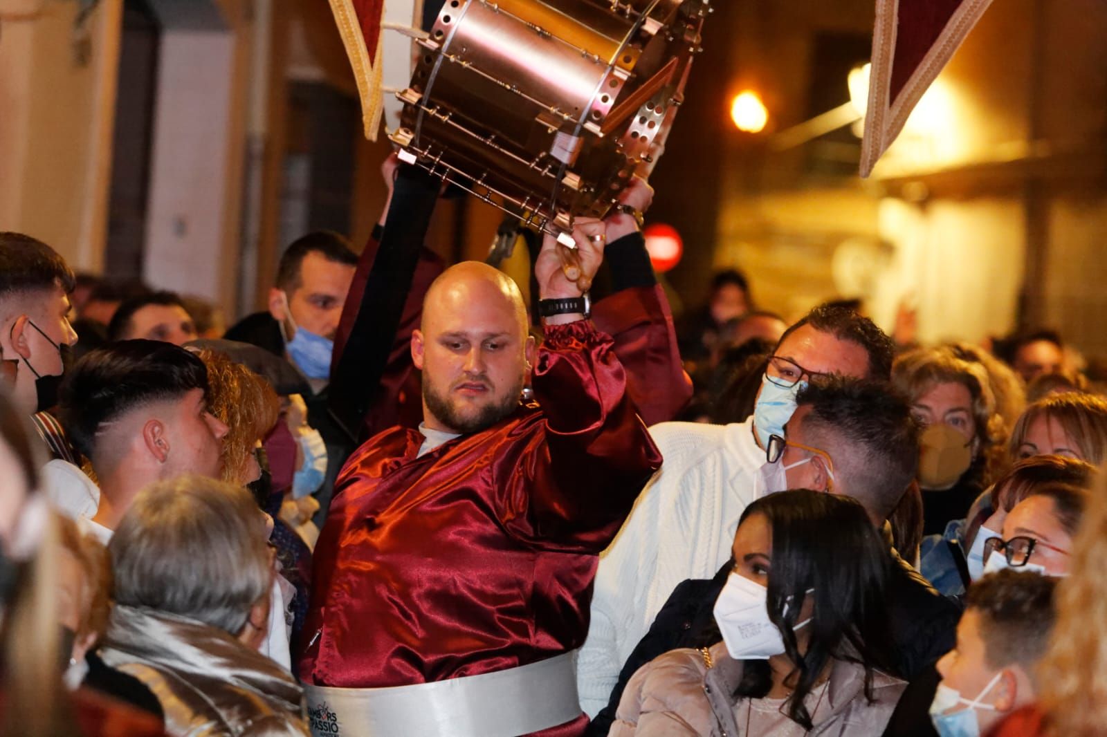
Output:
<instances>
[{"instance_id":1,"label":"head and neck of unmasked young man with faded dark haircut","mask_svg":"<svg viewBox=\"0 0 1107 737\"><path fill-rule=\"evenodd\" d=\"M60 413L100 482L80 520L101 540L141 489L185 473L219 477L227 426L207 408L207 369L183 347L122 341L83 357L62 384Z\"/></svg>"}]
</instances>

